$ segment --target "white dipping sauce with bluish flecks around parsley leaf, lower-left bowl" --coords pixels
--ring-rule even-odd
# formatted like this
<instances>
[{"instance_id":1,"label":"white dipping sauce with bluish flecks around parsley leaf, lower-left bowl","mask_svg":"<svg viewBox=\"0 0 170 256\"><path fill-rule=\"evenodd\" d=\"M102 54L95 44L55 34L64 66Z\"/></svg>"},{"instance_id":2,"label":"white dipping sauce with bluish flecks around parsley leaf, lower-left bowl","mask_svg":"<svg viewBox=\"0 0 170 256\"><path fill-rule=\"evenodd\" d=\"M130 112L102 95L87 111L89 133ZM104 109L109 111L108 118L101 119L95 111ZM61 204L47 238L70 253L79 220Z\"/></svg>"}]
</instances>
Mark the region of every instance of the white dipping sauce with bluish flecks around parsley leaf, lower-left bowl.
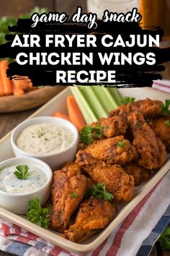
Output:
<instances>
[{"instance_id":1,"label":"white dipping sauce with bluish flecks around parsley leaf, lower-left bowl","mask_svg":"<svg viewBox=\"0 0 170 256\"><path fill-rule=\"evenodd\" d=\"M17 179L16 166L7 166L0 170L0 190L11 194L24 194L40 189L48 180L44 171L29 166L31 174L27 179Z\"/></svg>"}]
</instances>

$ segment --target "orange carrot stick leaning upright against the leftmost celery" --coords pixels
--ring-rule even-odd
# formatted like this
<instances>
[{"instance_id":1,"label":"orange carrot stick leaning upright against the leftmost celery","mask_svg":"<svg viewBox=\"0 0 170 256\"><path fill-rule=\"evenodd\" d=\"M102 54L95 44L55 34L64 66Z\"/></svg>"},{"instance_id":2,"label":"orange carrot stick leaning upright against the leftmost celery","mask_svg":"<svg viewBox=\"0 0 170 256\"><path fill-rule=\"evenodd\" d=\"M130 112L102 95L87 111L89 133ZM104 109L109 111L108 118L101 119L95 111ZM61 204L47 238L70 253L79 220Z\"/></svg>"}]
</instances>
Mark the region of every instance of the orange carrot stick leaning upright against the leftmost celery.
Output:
<instances>
[{"instance_id":1,"label":"orange carrot stick leaning upright against the leftmost celery","mask_svg":"<svg viewBox=\"0 0 170 256\"><path fill-rule=\"evenodd\" d=\"M84 120L84 116L81 114L80 108L73 95L69 95L67 97L67 108L71 122L77 127L77 129L79 129L79 131L81 131L81 129L86 126L86 121Z\"/></svg>"}]
</instances>

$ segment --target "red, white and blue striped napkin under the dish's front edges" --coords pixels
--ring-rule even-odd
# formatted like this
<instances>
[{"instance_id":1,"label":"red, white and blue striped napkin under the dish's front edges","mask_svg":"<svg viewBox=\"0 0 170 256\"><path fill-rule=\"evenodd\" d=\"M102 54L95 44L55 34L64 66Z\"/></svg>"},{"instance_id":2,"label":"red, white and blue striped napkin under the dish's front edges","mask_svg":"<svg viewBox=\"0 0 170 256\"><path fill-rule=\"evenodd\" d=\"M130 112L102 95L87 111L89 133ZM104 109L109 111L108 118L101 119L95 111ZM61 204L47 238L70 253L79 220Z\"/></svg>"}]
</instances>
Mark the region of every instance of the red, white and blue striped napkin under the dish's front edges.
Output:
<instances>
[{"instance_id":1,"label":"red, white and blue striped napkin under the dish's front edges","mask_svg":"<svg viewBox=\"0 0 170 256\"><path fill-rule=\"evenodd\" d=\"M88 256L147 256L170 222L170 171ZM0 218L0 248L21 256L76 255Z\"/></svg>"}]
</instances>

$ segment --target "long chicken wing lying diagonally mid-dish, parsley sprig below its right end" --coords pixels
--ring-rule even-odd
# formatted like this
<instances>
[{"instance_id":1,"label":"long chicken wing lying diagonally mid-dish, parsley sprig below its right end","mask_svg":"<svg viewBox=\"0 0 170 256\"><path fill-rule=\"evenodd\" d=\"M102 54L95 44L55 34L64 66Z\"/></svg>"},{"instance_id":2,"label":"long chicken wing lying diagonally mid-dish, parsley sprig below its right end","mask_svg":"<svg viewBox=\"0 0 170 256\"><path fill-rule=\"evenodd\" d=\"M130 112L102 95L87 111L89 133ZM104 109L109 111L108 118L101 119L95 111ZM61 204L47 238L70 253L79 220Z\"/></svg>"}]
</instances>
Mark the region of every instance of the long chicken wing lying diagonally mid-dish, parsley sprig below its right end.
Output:
<instances>
[{"instance_id":1,"label":"long chicken wing lying diagonally mid-dish, parsley sprig below its right end","mask_svg":"<svg viewBox=\"0 0 170 256\"><path fill-rule=\"evenodd\" d=\"M94 182L103 183L114 195L116 202L130 201L133 198L133 176L126 174L120 166L110 166L83 150L77 153L76 163L91 176Z\"/></svg>"}]
</instances>

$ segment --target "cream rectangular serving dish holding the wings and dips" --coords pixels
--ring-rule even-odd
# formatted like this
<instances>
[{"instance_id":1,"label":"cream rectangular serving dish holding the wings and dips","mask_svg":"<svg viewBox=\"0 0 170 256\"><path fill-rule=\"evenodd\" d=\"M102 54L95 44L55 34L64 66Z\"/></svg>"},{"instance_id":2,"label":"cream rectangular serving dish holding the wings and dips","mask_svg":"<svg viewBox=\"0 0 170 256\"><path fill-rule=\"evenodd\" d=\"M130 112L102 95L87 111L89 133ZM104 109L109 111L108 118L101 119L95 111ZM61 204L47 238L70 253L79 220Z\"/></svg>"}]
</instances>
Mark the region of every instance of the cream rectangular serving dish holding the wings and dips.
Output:
<instances>
[{"instance_id":1,"label":"cream rectangular serving dish holding the wings and dips","mask_svg":"<svg viewBox=\"0 0 170 256\"><path fill-rule=\"evenodd\" d=\"M169 94L161 93L157 90L153 90L151 88L127 88L120 89L120 93L123 97L130 96L135 97L136 100L143 98L151 98L158 99L161 101L165 101L166 98L169 98ZM67 88L63 90L61 93L56 95L52 100L46 103L44 106L39 108L32 116L33 118L36 116L51 116L55 111L61 111L63 114L67 114L66 108L66 98L68 95L71 95L71 90ZM10 135L6 135L4 138L0 140L0 161L4 161L8 158L14 157L14 153L12 151L12 146L10 143ZM87 254L97 248L105 239L109 236L109 234L117 228L117 226L128 216L128 214L135 208L136 205L145 197L148 192L161 180L161 178L169 171L170 161L167 161L165 165L153 176L148 182L145 184L136 187L135 189L135 197L134 199L126 205L120 205L117 211L117 217L114 221L112 221L106 229L101 231L99 234L92 236L90 239L87 239L83 244L76 244L74 242L68 241L67 239L63 239L60 234L54 231L45 230L40 228L40 226L36 226L34 223L27 221L24 216L17 216L14 213L5 210L4 208L0 208L0 216L7 221L11 221L14 224L21 226L27 231L30 231L37 236L42 237L43 239L48 240L49 242L58 245L63 249L67 249L70 252L79 253L79 254Z\"/></svg>"}]
</instances>

